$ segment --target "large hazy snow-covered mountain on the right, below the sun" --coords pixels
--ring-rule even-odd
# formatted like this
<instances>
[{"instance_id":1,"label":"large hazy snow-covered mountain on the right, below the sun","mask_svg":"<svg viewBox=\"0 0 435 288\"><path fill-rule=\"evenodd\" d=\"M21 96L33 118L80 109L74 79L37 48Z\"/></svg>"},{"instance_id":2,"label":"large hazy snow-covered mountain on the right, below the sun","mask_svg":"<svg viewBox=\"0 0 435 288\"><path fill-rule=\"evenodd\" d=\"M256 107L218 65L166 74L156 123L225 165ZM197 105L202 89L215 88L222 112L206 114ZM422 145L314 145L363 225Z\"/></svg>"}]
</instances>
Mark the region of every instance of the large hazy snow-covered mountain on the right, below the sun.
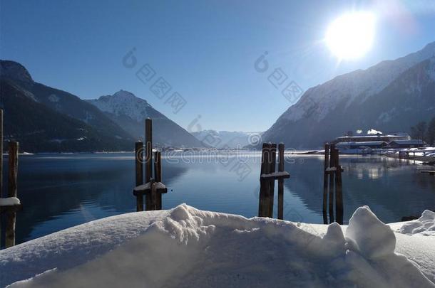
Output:
<instances>
[{"instance_id":1,"label":"large hazy snow-covered mountain on the right, below the sun","mask_svg":"<svg viewBox=\"0 0 435 288\"><path fill-rule=\"evenodd\" d=\"M407 131L435 114L434 55L435 42L309 88L263 140L308 148L356 129Z\"/></svg>"}]
</instances>

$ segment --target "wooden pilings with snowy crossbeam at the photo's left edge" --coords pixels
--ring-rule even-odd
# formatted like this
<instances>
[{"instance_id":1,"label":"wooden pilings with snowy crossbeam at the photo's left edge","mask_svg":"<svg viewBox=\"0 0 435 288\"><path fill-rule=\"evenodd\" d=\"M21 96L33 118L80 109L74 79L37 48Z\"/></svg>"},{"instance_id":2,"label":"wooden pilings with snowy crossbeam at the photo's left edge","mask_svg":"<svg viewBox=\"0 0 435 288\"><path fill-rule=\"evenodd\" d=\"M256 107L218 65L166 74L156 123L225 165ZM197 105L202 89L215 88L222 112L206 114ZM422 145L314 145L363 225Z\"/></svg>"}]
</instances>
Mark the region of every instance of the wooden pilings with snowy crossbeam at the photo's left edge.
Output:
<instances>
[{"instance_id":1,"label":"wooden pilings with snowy crossbeam at the photo's left edge","mask_svg":"<svg viewBox=\"0 0 435 288\"><path fill-rule=\"evenodd\" d=\"M4 203L4 201L11 200L11 197L17 196L17 176L18 176L18 142L9 142L9 155L8 155L8 189L6 198L3 198L3 110L0 110L0 215L6 216L5 227L5 240L4 246L6 248L15 245L15 223L16 223L16 211L21 210L21 203L11 201ZM9 198L9 199L8 199ZM1 229L0 220L0 243L1 243Z\"/></svg>"}]
</instances>

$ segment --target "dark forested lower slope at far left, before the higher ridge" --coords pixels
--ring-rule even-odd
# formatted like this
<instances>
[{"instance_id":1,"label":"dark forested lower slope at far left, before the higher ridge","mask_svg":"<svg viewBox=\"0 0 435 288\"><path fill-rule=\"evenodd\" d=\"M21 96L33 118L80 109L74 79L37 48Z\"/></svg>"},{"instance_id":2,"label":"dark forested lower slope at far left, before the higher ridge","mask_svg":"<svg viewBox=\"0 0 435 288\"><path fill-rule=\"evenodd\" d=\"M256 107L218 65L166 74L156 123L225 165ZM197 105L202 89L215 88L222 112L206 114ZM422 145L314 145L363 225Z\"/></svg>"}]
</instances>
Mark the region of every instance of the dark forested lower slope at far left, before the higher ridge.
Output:
<instances>
[{"instance_id":1,"label":"dark forested lower slope at far left, before the higher ridge","mask_svg":"<svg viewBox=\"0 0 435 288\"><path fill-rule=\"evenodd\" d=\"M74 152L121 151L122 139L110 139L78 119L34 101L14 82L0 79L0 103L4 109L4 141L18 141L21 151Z\"/></svg>"}]
</instances>

